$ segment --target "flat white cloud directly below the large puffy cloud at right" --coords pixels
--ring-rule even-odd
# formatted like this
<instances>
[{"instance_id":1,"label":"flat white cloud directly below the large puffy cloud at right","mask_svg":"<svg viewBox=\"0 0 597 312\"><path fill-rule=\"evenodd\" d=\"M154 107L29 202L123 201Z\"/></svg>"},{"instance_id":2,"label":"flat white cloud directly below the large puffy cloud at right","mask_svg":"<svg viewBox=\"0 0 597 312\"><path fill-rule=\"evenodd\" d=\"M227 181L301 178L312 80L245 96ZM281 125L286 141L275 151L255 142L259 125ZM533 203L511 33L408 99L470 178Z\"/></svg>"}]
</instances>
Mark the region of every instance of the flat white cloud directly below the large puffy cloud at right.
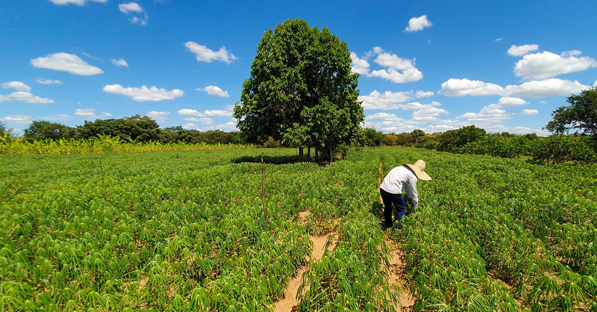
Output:
<instances>
[{"instance_id":1,"label":"flat white cloud directly below the large puffy cloud at right","mask_svg":"<svg viewBox=\"0 0 597 312\"><path fill-rule=\"evenodd\" d=\"M529 81L521 85L507 85L506 92L516 97L555 97L578 93L588 86L578 81L551 78L541 81Z\"/></svg>"}]
</instances>

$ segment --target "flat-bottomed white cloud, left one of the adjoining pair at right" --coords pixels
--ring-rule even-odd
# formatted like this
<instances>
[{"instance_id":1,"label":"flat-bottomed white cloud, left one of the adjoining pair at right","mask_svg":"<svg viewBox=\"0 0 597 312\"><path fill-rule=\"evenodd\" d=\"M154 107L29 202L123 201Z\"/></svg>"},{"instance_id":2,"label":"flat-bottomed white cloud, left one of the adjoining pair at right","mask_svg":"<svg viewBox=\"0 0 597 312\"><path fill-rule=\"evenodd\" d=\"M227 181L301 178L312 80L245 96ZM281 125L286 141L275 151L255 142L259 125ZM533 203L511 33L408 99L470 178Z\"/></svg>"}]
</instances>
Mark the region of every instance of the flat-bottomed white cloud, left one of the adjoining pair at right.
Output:
<instances>
[{"instance_id":1,"label":"flat-bottomed white cloud, left one of the adjoining pair at right","mask_svg":"<svg viewBox=\"0 0 597 312\"><path fill-rule=\"evenodd\" d=\"M481 95L509 95L500 85L478 80L469 80L466 78L448 79L448 81L442 84L442 89L438 94L446 95L448 97L463 97L464 95L470 95L472 97Z\"/></svg>"}]
</instances>

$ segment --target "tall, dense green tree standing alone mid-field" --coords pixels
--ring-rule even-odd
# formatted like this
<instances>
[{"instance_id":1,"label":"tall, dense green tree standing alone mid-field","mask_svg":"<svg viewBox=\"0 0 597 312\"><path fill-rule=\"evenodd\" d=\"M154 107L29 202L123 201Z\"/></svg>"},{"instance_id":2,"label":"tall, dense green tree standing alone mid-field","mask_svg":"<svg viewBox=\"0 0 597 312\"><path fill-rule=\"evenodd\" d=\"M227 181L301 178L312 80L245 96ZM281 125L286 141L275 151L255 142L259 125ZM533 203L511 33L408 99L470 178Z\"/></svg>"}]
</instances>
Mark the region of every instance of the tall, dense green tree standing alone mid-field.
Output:
<instances>
[{"instance_id":1,"label":"tall, dense green tree standing alone mid-field","mask_svg":"<svg viewBox=\"0 0 597 312\"><path fill-rule=\"evenodd\" d=\"M263 34L234 117L247 141L331 150L358 136L364 119L346 42L326 27L286 20Z\"/></svg>"}]
</instances>

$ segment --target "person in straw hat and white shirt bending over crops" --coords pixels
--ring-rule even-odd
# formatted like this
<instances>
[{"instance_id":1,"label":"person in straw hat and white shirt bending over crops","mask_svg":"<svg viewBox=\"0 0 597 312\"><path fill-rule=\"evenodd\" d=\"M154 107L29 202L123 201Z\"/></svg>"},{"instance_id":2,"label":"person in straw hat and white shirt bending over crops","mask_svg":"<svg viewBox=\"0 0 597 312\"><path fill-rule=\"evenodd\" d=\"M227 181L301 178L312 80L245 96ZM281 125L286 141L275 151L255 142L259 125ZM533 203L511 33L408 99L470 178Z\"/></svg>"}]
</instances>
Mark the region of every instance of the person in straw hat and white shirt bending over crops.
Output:
<instances>
[{"instance_id":1,"label":"person in straw hat and white shirt bending over crops","mask_svg":"<svg viewBox=\"0 0 597 312\"><path fill-rule=\"evenodd\" d=\"M392 227L392 203L398 210L396 221L400 221L407 210L404 205L404 197L402 197L403 187L406 189L413 207L418 205L417 178L423 181L431 180L431 177L424 170L425 162L419 159L414 165L402 163L402 166L390 170L383 179L379 192L383 201L383 214L387 227ZM396 228L402 228L402 225L398 223Z\"/></svg>"}]
</instances>

